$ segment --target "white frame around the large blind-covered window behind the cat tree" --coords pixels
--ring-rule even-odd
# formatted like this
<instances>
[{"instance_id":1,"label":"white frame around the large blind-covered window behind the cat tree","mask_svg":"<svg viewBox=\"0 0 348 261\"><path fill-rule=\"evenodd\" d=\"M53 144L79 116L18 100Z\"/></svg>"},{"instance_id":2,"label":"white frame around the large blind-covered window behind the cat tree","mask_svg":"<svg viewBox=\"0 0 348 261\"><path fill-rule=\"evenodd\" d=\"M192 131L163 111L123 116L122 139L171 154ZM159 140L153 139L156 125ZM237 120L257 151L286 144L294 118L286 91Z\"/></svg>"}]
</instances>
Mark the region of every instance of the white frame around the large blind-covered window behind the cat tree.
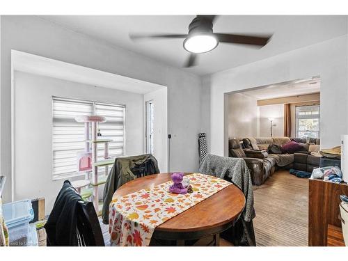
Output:
<instances>
[{"instance_id":1,"label":"white frame around the large blind-covered window behind the cat tree","mask_svg":"<svg viewBox=\"0 0 348 261\"><path fill-rule=\"evenodd\" d=\"M52 95L51 97L52 99L52 133L51 133L51 140L52 140L52 180L63 180L66 178L70 178L70 177L80 177L80 176L84 176L86 175L86 173L79 173L77 171L75 171L74 173L66 173L66 175L54 175L54 100L66 100L68 102L86 102L86 103L90 103L92 106L92 113L93 115L95 115L95 104L104 104L104 105L111 105L111 106L122 106L123 110L124 110L124 115L123 115L123 129L124 129L124 133L123 133L123 154L122 155L127 155L127 148L126 148L126 128L127 128L127 106L126 104L116 104L113 102L100 102L97 100L85 100L85 99L79 99L79 98L66 98L66 97L61 97L61 96L55 96Z\"/></svg>"}]
</instances>

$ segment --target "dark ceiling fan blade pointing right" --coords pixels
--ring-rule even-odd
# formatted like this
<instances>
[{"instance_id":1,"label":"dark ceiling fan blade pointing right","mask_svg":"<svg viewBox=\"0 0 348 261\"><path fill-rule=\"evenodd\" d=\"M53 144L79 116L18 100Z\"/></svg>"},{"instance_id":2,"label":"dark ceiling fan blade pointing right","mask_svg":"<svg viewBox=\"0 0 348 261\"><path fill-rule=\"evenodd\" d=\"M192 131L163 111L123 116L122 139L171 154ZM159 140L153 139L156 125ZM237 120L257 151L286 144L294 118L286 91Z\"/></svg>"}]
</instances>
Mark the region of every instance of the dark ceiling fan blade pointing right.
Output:
<instances>
[{"instance_id":1,"label":"dark ceiling fan blade pointing right","mask_svg":"<svg viewBox=\"0 0 348 261\"><path fill-rule=\"evenodd\" d=\"M219 42L227 42L241 45L267 45L272 35L237 35L228 33L214 33Z\"/></svg>"}]
</instances>

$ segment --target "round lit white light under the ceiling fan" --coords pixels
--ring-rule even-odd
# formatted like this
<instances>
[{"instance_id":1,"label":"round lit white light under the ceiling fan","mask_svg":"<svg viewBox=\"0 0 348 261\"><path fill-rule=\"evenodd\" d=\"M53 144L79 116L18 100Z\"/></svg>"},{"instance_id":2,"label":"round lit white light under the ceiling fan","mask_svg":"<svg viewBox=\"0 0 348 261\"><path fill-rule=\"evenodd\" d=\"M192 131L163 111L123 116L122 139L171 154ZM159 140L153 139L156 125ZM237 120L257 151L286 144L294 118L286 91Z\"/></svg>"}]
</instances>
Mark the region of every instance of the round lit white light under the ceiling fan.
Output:
<instances>
[{"instance_id":1,"label":"round lit white light under the ceiling fan","mask_svg":"<svg viewBox=\"0 0 348 261\"><path fill-rule=\"evenodd\" d=\"M219 44L214 35L192 35L184 40L184 49L188 52L201 54L212 51Z\"/></svg>"}]
</instances>

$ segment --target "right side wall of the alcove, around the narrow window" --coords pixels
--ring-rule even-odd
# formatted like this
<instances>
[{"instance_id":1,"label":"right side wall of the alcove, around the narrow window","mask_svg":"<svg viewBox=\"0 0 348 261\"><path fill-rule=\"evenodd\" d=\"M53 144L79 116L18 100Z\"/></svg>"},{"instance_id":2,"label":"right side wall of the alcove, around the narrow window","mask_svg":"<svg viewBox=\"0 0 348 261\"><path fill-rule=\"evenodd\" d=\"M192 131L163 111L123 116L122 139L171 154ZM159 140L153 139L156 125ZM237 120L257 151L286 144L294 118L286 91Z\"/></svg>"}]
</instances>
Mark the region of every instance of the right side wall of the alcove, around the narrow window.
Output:
<instances>
[{"instance_id":1,"label":"right side wall of the alcove, around the narrow window","mask_svg":"<svg viewBox=\"0 0 348 261\"><path fill-rule=\"evenodd\" d=\"M144 94L143 111L145 118L145 102L154 102L154 148L153 155L158 161L159 171L168 172L168 122L167 122L167 90L166 88L155 90ZM145 121L145 120L144 120ZM145 133L144 122L144 133ZM143 151L146 151L146 141L144 135Z\"/></svg>"}]
</instances>

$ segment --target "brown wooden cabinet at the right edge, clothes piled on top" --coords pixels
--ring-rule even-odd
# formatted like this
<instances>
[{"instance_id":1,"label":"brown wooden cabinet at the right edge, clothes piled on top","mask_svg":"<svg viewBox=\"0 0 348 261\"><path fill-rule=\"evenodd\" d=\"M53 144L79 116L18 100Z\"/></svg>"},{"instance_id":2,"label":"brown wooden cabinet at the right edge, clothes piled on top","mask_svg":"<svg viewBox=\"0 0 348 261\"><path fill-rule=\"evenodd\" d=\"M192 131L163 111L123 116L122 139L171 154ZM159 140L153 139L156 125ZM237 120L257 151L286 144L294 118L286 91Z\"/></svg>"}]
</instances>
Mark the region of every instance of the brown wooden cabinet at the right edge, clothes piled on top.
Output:
<instances>
[{"instance_id":1,"label":"brown wooden cabinet at the right edge, clothes piled on top","mask_svg":"<svg viewBox=\"0 0 348 261\"><path fill-rule=\"evenodd\" d=\"M348 195L348 184L310 179L308 193L308 246L338 245L340 195Z\"/></svg>"}]
</instances>

